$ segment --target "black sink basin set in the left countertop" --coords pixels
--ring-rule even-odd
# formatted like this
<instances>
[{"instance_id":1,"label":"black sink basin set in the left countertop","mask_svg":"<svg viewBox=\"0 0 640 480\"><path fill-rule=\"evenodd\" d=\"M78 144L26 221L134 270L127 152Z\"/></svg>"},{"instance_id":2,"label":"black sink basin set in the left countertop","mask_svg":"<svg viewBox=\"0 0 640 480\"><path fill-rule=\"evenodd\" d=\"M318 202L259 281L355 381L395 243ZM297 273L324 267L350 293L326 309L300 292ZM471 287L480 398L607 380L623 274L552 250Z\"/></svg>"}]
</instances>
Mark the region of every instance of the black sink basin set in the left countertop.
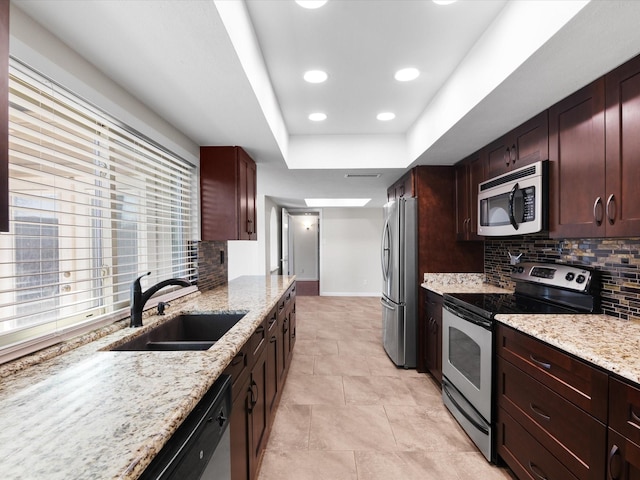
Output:
<instances>
[{"instance_id":1,"label":"black sink basin set in the left countertop","mask_svg":"<svg viewBox=\"0 0 640 480\"><path fill-rule=\"evenodd\" d=\"M111 350L208 350L245 315L245 313L178 315Z\"/></svg>"}]
</instances>

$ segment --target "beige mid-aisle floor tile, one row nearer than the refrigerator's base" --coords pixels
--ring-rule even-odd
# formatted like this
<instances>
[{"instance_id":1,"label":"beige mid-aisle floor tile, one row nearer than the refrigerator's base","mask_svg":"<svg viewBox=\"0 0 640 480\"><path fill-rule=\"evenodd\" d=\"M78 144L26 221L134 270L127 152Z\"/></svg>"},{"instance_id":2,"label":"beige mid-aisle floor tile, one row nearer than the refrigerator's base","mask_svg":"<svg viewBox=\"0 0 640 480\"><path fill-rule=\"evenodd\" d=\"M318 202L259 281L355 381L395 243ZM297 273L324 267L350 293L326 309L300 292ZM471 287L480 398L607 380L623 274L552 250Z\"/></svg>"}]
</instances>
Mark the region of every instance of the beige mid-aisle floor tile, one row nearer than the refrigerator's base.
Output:
<instances>
[{"instance_id":1,"label":"beige mid-aisle floor tile, one row nearer than the refrigerator's base","mask_svg":"<svg viewBox=\"0 0 640 480\"><path fill-rule=\"evenodd\" d=\"M416 402L401 378L344 377L347 405L415 405Z\"/></svg>"}]
</instances>

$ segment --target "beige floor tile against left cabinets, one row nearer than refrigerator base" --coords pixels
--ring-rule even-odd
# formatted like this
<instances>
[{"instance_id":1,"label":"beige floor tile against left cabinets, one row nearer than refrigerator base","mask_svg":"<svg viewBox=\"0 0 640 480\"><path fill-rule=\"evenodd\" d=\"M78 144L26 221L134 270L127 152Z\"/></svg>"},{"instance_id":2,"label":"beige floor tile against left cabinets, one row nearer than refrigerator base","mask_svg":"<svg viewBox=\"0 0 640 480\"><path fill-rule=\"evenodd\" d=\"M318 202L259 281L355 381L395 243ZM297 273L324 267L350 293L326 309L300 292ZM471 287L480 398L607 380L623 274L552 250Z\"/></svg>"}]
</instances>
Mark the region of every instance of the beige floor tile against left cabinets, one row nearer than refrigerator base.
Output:
<instances>
[{"instance_id":1,"label":"beige floor tile against left cabinets, one row nearer than refrigerator base","mask_svg":"<svg viewBox=\"0 0 640 480\"><path fill-rule=\"evenodd\" d=\"M280 403L285 405L344 405L342 377L289 373Z\"/></svg>"}]
</instances>

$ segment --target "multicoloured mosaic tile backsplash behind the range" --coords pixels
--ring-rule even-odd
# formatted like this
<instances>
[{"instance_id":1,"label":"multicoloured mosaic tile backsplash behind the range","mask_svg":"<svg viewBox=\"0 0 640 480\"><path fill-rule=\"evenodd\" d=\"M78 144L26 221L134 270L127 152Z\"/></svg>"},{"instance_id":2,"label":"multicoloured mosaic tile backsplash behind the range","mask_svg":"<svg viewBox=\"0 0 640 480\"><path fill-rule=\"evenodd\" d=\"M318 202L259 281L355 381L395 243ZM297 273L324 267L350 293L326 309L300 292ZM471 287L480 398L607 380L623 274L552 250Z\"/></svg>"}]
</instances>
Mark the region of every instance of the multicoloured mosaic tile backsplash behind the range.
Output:
<instances>
[{"instance_id":1,"label":"multicoloured mosaic tile backsplash behind the range","mask_svg":"<svg viewBox=\"0 0 640 480\"><path fill-rule=\"evenodd\" d=\"M521 262L570 263L600 271L602 313L640 321L640 238L552 240L543 235L485 239L484 269L493 285L514 288L509 253Z\"/></svg>"}]
</instances>

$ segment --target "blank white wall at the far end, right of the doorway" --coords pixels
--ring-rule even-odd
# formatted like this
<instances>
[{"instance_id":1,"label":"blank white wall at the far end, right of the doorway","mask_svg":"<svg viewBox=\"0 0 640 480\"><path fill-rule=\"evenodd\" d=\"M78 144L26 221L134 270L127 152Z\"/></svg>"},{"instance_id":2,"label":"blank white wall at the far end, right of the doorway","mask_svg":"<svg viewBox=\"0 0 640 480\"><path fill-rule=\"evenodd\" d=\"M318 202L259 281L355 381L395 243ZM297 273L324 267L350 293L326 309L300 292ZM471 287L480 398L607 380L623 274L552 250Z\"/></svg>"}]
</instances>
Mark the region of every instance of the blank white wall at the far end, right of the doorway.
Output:
<instances>
[{"instance_id":1,"label":"blank white wall at the far end, right of the doorway","mask_svg":"<svg viewBox=\"0 0 640 480\"><path fill-rule=\"evenodd\" d=\"M326 208L320 224L320 295L379 296L382 208Z\"/></svg>"}]
</instances>

